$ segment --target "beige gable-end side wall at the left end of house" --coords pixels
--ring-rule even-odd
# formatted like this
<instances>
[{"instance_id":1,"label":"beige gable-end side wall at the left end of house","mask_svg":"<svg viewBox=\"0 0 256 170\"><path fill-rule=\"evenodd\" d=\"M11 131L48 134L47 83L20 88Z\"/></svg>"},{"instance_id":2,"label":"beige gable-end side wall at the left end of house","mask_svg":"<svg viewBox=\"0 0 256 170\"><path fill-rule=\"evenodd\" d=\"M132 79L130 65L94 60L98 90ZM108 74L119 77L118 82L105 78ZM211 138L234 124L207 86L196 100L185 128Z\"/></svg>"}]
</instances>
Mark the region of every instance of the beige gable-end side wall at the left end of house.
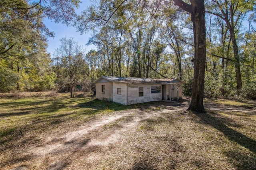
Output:
<instances>
[{"instance_id":1,"label":"beige gable-end side wall at the left end of house","mask_svg":"<svg viewBox=\"0 0 256 170\"><path fill-rule=\"evenodd\" d=\"M105 85L105 92L102 92L102 85ZM96 99L113 101L113 82L101 79L96 83Z\"/></svg>"}]
</instances>

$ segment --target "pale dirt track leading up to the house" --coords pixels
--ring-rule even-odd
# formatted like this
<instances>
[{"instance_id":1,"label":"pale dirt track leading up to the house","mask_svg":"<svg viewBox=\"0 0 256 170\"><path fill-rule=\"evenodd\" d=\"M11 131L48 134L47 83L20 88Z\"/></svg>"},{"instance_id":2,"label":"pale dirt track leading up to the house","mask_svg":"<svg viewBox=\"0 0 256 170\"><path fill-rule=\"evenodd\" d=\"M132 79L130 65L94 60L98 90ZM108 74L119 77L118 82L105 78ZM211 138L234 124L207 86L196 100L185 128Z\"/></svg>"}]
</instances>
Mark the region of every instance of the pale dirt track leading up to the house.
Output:
<instances>
[{"instance_id":1,"label":"pale dirt track leading up to the house","mask_svg":"<svg viewBox=\"0 0 256 170\"><path fill-rule=\"evenodd\" d=\"M109 115L86 123L66 134L56 129L46 136L39 136L40 144L27 148L20 157L29 158L29 164L19 163L13 170L20 169L87 169L93 167L115 142L124 140L125 134L138 124L161 113L183 111L180 106L150 107L115 111Z\"/></svg>"}]
</instances>

